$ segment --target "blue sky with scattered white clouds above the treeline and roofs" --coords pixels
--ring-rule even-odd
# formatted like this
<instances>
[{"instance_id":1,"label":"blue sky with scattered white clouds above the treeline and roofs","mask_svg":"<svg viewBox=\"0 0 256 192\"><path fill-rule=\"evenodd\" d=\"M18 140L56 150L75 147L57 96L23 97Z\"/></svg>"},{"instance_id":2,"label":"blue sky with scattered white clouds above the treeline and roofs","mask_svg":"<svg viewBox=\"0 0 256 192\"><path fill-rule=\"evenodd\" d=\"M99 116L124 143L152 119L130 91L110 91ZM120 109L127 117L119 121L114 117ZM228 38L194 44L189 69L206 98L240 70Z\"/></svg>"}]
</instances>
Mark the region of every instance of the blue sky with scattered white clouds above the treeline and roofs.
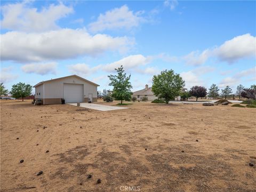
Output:
<instances>
[{"instance_id":1,"label":"blue sky with scattered white clouds above the treeline and roofs","mask_svg":"<svg viewBox=\"0 0 256 192\"><path fill-rule=\"evenodd\" d=\"M124 66L133 90L173 69L186 87L255 84L255 1L2 1L1 82L79 75L111 89Z\"/></svg>"}]
</instances>

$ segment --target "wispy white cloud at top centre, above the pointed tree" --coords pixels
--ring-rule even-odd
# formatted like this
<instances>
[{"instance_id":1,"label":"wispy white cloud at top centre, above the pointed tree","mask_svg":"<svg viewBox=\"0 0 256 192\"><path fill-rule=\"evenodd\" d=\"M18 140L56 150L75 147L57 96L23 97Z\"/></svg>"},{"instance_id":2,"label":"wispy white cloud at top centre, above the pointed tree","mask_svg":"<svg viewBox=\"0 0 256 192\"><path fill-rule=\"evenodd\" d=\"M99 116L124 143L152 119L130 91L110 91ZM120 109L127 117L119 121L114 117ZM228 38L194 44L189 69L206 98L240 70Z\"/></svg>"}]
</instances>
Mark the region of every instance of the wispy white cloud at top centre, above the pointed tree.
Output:
<instances>
[{"instance_id":1,"label":"wispy white cloud at top centre, above the pointed tree","mask_svg":"<svg viewBox=\"0 0 256 192\"><path fill-rule=\"evenodd\" d=\"M141 22L146 21L141 17L142 13L143 11L134 13L129 10L127 5L123 5L120 8L107 11L105 14L100 14L97 21L89 24L89 30L95 33L103 30L138 27Z\"/></svg>"}]
</instances>

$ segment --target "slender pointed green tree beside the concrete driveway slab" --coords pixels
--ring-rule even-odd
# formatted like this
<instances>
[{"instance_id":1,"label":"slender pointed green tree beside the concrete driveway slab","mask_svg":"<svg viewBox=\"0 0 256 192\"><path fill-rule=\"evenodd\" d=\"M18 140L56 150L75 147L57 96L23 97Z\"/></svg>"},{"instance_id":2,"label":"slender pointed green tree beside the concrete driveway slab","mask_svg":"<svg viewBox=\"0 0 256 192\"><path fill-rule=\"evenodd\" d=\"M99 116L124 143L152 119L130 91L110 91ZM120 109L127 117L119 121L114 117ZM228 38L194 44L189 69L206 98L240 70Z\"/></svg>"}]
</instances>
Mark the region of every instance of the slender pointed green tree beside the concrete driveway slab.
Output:
<instances>
[{"instance_id":1,"label":"slender pointed green tree beside the concrete driveway slab","mask_svg":"<svg viewBox=\"0 0 256 192\"><path fill-rule=\"evenodd\" d=\"M121 100L121 104L123 100L131 101L132 99L132 85L130 82L131 75L126 77L126 73L124 73L123 66L115 69L117 75L109 75L110 86L114 86L111 96L115 98L115 100Z\"/></svg>"}]
</instances>

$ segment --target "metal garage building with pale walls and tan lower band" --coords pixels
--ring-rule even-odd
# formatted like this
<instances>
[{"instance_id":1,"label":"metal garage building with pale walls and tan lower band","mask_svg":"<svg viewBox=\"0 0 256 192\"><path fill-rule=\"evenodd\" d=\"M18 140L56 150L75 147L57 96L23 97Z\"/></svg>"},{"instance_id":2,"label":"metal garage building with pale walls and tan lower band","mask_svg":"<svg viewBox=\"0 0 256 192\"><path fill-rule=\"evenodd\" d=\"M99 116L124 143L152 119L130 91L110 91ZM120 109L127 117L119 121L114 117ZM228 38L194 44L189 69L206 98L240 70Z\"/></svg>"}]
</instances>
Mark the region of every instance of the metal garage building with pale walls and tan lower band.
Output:
<instances>
[{"instance_id":1,"label":"metal garage building with pale walls and tan lower band","mask_svg":"<svg viewBox=\"0 0 256 192\"><path fill-rule=\"evenodd\" d=\"M96 102L98 86L77 75L51 79L34 86L35 100L42 100L43 105L59 104L61 99L65 99L65 103Z\"/></svg>"}]
</instances>

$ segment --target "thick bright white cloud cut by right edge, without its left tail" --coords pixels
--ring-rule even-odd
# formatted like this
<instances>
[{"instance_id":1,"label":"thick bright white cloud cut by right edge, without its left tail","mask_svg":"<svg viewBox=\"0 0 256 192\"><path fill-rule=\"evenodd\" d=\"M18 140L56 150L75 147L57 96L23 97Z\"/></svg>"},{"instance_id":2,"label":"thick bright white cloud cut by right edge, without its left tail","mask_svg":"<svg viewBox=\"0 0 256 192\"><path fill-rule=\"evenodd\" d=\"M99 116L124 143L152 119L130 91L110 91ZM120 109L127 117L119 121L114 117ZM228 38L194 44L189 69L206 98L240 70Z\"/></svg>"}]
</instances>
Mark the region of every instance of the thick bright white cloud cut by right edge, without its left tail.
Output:
<instances>
[{"instance_id":1,"label":"thick bright white cloud cut by right edge, without its left tail","mask_svg":"<svg viewBox=\"0 0 256 192\"><path fill-rule=\"evenodd\" d=\"M233 63L241 58L255 57L256 37L250 34L234 37L214 50L222 61Z\"/></svg>"}]
</instances>

